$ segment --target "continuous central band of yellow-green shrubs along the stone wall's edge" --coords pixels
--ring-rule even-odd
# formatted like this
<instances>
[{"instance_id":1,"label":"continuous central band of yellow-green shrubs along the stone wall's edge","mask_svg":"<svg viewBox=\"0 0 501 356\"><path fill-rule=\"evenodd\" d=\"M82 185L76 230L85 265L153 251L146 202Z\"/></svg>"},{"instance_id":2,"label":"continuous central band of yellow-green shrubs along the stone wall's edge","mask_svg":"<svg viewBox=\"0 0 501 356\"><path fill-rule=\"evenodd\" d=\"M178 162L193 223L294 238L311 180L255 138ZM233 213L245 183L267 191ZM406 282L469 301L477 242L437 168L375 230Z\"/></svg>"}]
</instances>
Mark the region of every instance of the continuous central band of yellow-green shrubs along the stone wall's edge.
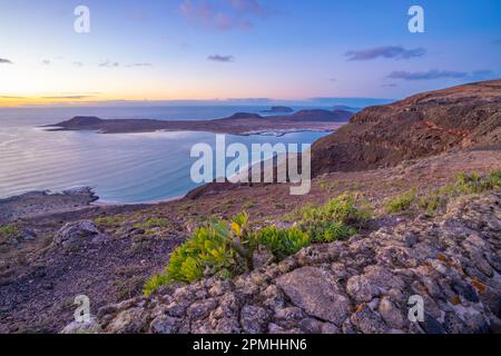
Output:
<instances>
[{"instance_id":1,"label":"continuous central band of yellow-green shrubs along the stone wall's edge","mask_svg":"<svg viewBox=\"0 0 501 356\"><path fill-rule=\"evenodd\" d=\"M370 218L356 207L356 198L343 195L322 207L303 209L297 227L265 227L252 230L248 215L243 212L230 221L213 219L195 230L191 237L170 256L163 274L153 276L144 293L150 295L159 286L173 281L191 283L205 276L223 278L252 270L253 254L258 246L282 259L297 253L311 241L327 243L356 234L351 225Z\"/></svg>"}]
</instances>

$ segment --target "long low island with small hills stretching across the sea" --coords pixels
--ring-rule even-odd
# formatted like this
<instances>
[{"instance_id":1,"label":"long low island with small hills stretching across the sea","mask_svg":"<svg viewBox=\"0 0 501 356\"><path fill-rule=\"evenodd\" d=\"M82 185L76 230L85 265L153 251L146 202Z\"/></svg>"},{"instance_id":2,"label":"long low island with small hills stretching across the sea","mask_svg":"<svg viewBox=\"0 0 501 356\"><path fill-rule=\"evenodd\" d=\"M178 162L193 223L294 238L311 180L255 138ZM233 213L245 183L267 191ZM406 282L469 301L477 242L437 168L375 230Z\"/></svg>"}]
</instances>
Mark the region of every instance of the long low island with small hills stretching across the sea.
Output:
<instances>
[{"instance_id":1,"label":"long low island with small hills stretching across the sea","mask_svg":"<svg viewBox=\"0 0 501 356\"><path fill-rule=\"evenodd\" d=\"M149 120L98 117L75 117L70 120L45 126L51 131L97 131L100 134L131 134L155 131L205 131L228 135L285 135L299 131L331 132L346 123L353 116L344 110L302 110L288 116L267 116L237 112L216 120Z\"/></svg>"}]
</instances>

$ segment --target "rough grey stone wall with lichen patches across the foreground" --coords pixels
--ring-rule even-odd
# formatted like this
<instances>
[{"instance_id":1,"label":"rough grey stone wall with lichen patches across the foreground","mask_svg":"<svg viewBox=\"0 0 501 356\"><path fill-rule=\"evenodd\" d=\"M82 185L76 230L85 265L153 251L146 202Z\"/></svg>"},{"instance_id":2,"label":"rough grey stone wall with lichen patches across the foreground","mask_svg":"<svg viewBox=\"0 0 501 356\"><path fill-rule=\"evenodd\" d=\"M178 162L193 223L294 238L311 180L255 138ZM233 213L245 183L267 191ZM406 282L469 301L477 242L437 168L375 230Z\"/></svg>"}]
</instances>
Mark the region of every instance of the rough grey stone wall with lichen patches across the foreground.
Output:
<instances>
[{"instance_id":1,"label":"rough grey stone wall with lichen patches across the foreground","mask_svg":"<svg viewBox=\"0 0 501 356\"><path fill-rule=\"evenodd\" d=\"M167 287L63 333L499 333L501 194L366 237L312 246L235 280ZM424 320L407 318L424 299Z\"/></svg>"}]
</instances>

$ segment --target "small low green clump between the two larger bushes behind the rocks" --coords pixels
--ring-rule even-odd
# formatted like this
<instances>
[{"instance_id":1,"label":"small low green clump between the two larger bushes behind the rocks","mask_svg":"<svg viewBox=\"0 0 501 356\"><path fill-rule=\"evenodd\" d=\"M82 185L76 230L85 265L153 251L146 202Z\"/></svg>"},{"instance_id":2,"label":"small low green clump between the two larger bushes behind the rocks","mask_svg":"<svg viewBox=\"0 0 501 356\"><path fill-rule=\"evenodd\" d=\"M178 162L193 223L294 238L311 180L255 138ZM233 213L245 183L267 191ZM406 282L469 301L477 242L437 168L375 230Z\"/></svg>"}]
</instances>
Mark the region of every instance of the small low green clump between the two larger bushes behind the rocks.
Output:
<instances>
[{"instance_id":1,"label":"small low green clump between the two larger bushes behind the rocks","mask_svg":"<svg viewBox=\"0 0 501 356\"><path fill-rule=\"evenodd\" d=\"M268 249L277 259L294 255L311 244L310 236L297 227L278 229L275 226L265 227L255 233L257 244Z\"/></svg>"}]
</instances>

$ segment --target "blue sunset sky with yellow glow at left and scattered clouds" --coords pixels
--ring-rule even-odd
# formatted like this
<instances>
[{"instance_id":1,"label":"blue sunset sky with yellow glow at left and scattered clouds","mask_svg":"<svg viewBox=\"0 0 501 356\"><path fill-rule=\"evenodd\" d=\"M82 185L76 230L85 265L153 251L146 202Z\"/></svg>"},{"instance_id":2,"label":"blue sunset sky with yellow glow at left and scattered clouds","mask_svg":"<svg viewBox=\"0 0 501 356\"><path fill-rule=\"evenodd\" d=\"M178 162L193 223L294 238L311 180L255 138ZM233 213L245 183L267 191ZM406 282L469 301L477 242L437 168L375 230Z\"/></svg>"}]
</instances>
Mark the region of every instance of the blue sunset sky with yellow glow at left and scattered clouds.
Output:
<instances>
[{"instance_id":1,"label":"blue sunset sky with yellow glow at left and scattered clouds","mask_svg":"<svg viewBox=\"0 0 501 356\"><path fill-rule=\"evenodd\" d=\"M499 0L0 0L0 106L400 99L497 78Z\"/></svg>"}]
</instances>

